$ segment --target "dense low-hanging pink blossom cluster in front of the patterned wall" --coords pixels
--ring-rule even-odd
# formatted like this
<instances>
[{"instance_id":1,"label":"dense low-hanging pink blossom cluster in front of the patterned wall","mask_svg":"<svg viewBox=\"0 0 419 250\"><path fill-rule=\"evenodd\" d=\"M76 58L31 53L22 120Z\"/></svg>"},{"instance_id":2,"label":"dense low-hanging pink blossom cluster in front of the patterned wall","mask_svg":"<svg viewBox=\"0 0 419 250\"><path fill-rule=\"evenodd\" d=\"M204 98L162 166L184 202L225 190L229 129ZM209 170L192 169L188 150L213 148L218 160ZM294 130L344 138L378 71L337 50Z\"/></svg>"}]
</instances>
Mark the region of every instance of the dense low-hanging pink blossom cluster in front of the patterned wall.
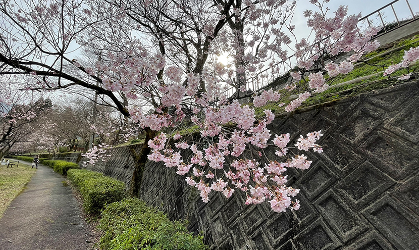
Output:
<instances>
[{"instance_id":1,"label":"dense low-hanging pink blossom cluster in front of the patterned wall","mask_svg":"<svg viewBox=\"0 0 419 250\"><path fill-rule=\"evenodd\" d=\"M148 159L163 162L168 168L176 168L177 174L187 175L188 185L196 187L203 202L209 201L213 191L223 193L227 198L236 190L247 194L246 204L260 204L269 201L275 212L284 212L287 208L297 210L298 200L292 201L299 190L287 187L287 168L308 169L311 161L304 155L289 156L290 135L275 135L272 138L267 125L274 120L273 113L265 110L266 117L258 122L254 112L248 106L240 107L237 102L218 109L202 109L205 116L202 122L201 136L206 143L194 143L182 140L180 134L173 139L175 148L170 147L170 137L160 133L148 141L152 153ZM226 131L221 125L234 121L237 129ZM321 131L308 133L298 138L293 147L300 151L321 153L317 140ZM168 144L169 143L169 144ZM206 146L204 146L206 145ZM270 160L265 155L265 148L276 148L276 155L283 159ZM185 154L180 154L186 150ZM257 152L252 158L246 152ZM190 159L183 155L191 155Z\"/></svg>"}]
</instances>

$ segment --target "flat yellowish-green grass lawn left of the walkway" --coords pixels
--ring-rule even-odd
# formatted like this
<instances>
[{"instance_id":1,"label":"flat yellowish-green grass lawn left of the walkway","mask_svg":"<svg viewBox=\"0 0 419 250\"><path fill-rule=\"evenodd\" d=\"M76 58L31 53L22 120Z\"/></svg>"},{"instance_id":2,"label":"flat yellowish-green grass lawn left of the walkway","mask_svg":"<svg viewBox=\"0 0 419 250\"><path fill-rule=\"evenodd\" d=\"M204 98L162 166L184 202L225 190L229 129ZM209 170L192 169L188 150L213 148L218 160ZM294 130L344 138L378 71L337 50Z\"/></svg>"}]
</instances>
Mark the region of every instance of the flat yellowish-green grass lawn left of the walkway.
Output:
<instances>
[{"instance_id":1,"label":"flat yellowish-green grass lawn left of the walkway","mask_svg":"<svg viewBox=\"0 0 419 250\"><path fill-rule=\"evenodd\" d=\"M35 171L32 166L22 163L19 163L18 168L16 165L13 168L0 165L0 218L13 199L25 188Z\"/></svg>"}]
</instances>

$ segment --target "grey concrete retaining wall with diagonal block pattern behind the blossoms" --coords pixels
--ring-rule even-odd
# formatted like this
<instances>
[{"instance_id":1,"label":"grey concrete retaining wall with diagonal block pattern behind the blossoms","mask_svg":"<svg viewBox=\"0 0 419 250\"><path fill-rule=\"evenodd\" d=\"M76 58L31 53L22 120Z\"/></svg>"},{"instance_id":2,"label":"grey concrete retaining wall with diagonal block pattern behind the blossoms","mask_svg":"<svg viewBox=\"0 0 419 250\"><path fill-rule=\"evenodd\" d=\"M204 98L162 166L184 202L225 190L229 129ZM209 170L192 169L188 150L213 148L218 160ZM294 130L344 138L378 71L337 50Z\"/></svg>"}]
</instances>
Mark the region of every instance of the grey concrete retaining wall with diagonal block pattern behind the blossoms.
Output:
<instances>
[{"instance_id":1,"label":"grey concrete retaining wall with diagonal block pattern behind the blossoms","mask_svg":"<svg viewBox=\"0 0 419 250\"><path fill-rule=\"evenodd\" d=\"M418 249L418 93L410 82L277 118L273 134L325 134L324 154L306 154L310 169L287 170L288 184L301 189L298 211L247 206L240 192L229 199L216 192L204 204L183 177L152 162L141 197L189 220L211 249ZM90 169L129 183L128 148L112 155Z\"/></svg>"}]
</instances>

